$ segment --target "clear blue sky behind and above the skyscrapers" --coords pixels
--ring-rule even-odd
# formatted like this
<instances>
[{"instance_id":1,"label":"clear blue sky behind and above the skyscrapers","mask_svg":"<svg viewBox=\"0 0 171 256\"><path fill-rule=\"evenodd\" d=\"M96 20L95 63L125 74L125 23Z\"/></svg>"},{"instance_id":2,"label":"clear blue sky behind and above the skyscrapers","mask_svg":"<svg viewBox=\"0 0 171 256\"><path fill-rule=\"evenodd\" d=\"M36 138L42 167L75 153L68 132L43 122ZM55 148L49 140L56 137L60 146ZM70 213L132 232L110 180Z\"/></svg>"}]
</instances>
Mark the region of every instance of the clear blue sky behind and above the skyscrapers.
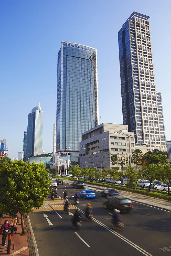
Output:
<instances>
[{"instance_id":1,"label":"clear blue sky behind and above the skyscrapers","mask_svg":"<svg viewBox=\"0 0 171 256\"><path fill-rule=\"evenodd\" d=\"M156 89L170 132L170 1L0 1L0 140L8 156L23 151L28 113L44 111L43 150L53 150L57 54L61 41L97 49L101 122L122 124L117 32L133 11L150 16ZM100 119L99 119L100 120Z\"/></svg>"}]
</instances>

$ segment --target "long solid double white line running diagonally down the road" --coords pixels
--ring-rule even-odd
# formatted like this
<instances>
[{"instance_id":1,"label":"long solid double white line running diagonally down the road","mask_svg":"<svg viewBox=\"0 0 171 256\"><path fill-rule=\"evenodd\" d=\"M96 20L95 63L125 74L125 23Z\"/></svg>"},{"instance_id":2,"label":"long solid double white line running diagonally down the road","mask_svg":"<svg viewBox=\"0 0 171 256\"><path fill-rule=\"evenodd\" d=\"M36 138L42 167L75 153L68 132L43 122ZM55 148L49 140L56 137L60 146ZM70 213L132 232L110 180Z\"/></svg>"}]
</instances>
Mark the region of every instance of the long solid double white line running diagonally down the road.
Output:
<instances>
[{"instance_id":1,"label":"long solid double white line running diagonally down the road","mask_svg":"<svg viewBox=\"0 0 171 256\"><path fill-rule=\"evenodd\" d=\"M71 204L72 205L72 204ZM81 209L79 209L77 206L74 206L76 209L78 209L80 212L82 212L82 214L85 215L85 212L82 211ZM141 247L137 246L135 243L131 242L129 239L123 237L121 234L117 233L116 231L112 230L111 228L109 228L108 226L104 225L103 223L101 223L99 220L95 219L92 217L92 220L94 220L96 223L98 223L100 226L102 226L103 228L107 229L108 231L110 231L111 233L113 233L115 236L119 237L120 239L122 239L123 241L125 241L126 243L130 244L132 247L134 247L136 250L140 251L141 253L143 253L146 256L153 256L152 254L148 253L147 251L145 251L144 249L142 249ZM75 232L76 233L76 232Z\"/></svg>"}]
</instances>

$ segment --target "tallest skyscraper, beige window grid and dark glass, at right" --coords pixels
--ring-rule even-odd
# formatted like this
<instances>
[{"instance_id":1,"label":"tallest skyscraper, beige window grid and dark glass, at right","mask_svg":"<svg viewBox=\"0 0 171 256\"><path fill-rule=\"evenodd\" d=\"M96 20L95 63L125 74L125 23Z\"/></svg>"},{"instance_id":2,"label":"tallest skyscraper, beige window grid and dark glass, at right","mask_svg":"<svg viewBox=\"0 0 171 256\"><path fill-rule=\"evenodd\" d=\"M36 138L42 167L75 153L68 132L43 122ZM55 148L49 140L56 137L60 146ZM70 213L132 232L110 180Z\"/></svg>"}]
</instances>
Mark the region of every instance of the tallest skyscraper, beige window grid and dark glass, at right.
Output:
<instances>
[{"instance_id":1,"label":"tallest skyscraper, beige window grid and dark glass, at right","mask_svg":"<svg viewBox=\"0 0 171 256\"><path fill-rule=\"evenodd\" d=\"M156 91L149 16L133 12L118 32L123 124L135 146L166 151L161 93ZM141 133L141 134L138 134Z\"/></svg>"}]
</instances>

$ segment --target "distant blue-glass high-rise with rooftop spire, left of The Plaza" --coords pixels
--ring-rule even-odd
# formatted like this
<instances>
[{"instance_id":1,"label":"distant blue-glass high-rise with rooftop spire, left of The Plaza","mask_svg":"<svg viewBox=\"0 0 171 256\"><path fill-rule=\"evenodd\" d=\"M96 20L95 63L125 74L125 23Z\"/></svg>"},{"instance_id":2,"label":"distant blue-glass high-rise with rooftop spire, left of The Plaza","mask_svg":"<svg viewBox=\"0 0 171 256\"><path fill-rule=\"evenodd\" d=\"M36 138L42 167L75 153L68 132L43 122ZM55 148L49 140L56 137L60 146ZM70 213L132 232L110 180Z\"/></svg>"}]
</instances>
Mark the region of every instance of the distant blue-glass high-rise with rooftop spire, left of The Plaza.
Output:
<instances>
[{"instance_id":1,"label":"distant blue-glass high-rise with rooftop spire, left of The Plaza","mask_svg":"<svg viewBox=\"0 0 171 256\"><path fill-rule=\"evenodd\" d=\"M42 154L43 111L40 105L28 114L26 161L29 156Z\"/></svg>"}]
</instances>

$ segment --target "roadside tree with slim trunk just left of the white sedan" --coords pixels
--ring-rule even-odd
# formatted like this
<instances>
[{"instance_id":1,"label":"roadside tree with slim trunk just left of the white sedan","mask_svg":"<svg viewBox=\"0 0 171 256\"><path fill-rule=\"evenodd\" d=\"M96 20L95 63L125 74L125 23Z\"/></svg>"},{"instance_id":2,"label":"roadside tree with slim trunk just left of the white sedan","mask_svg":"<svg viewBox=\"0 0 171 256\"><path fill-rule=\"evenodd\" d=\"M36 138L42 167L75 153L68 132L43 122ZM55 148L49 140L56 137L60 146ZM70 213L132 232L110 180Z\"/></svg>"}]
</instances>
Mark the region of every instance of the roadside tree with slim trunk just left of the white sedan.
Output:
<instances>
[{"instance_id":1,"label":"roadside tree with slim trunk just left of the white sedan","mask_svg":"<svg viewBox=\"0 0 171 256\"><path fill-rule=\"evenodd\" d=\"M140 169L139 176L141 178L145 178L145 179L149 180L149 182L150 182L149 192L150 192L150 189L151 189L152 180L157 177L159 169L163 169L161 164L144 165Z\"/></svg>"}]
</instances>

